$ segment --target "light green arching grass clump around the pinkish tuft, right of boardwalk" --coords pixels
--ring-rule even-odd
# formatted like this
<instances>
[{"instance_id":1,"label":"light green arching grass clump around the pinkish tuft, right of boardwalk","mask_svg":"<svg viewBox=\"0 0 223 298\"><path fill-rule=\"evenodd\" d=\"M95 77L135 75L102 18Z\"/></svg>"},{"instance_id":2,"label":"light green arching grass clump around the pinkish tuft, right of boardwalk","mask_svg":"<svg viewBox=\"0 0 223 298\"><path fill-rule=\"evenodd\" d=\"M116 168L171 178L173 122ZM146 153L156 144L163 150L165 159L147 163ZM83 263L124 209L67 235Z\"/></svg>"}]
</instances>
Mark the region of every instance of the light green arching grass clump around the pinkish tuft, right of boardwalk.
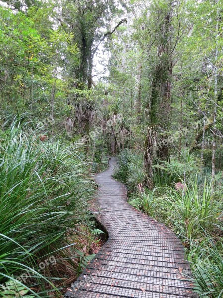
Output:
<instances>
[{"instance_id":1,"label":"light green arching grass clump around the pinkish tuft, right of boardwalk","mask_svg":"<svg viewBox=\"0 0 223 298\"><path fill-rule=\"evenodd\" d=\"M190 242L190 239L202 236L204 231L211 232L221 204L211 196L211 183L207 185L205 182L199 189L195 178L184 190L167 186L157 189L157 194L160 190L163 195L158 199L158 206L162 209L162 217L182 240L187 242L189 239Z\"/></svg>"}]
</instances>

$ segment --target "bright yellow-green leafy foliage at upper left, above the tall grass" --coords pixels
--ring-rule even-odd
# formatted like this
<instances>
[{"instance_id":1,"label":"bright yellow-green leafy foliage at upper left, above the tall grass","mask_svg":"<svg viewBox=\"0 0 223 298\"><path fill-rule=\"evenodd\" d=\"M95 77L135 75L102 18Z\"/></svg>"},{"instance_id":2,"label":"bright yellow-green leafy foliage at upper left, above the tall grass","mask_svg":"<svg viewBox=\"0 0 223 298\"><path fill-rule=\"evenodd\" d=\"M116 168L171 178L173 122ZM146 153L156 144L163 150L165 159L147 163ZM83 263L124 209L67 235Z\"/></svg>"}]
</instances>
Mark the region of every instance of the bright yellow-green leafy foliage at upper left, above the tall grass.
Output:
<instances>
[{"instance_id":1,"label":"bright yellow-green leafy foliage at upper left, above the tall grass","mask_svg":"<svg viewBox=\"0 0 223 298\"><path fill-rule=\"evenodd\" d=\"M49 114L55 119L64 115L69 78L59 79L58 68L64 65L64 59L78 52L70 43L72 33L52 30L53 22L46 13L49 7L45 8L45 13L44 8L31 8L27 17L0 7L1 108L19 113L32 111L40 120ZM44 32L35 24L37 13L46 25Z\"/></svg>"}]
</instances>

